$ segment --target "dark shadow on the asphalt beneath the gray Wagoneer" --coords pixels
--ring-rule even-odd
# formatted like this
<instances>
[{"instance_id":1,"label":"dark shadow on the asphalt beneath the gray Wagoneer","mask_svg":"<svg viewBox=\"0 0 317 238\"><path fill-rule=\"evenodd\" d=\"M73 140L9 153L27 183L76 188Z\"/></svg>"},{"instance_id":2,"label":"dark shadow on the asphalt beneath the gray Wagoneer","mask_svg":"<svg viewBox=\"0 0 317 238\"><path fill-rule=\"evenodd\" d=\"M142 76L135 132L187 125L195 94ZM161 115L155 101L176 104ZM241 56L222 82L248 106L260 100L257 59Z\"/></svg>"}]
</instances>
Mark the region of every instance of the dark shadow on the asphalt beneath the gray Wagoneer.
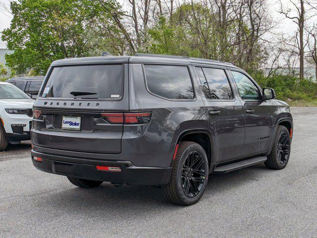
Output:
<instances>
[{"instance_id":1,"label":"dark shadow on the asphalt beneath the gray Wagoneer","mask_svg":"<svg viewBox=\"0 0 317 238\"><path fill-rule=\"evenodd\" d=\"M246 185L250 180L260 181L267 173L264 165L256 165L228 174L211 175L209 183L202 197L201 202L205 199L215 196L218 193L229 192L231 189L237 189L240 185ZM65 178L65 183L68 180ZM255 182L255 181L253 181ZM65 184L63 183L63 184ZM94 212L118 215L132 216L137 211L148 214L148 211L179 210L186 207L177 206L169 203L164 195L162 188L154 186L124 185L115 187L109 182L91 189L78 188L71 185L69 189L57 190L53 194L44 195L40 206L47 209L48 207L73 212L80 208L81 212L91 214ZM194 205L195 206L195 205Z\"/></svg>"}]
</instances>

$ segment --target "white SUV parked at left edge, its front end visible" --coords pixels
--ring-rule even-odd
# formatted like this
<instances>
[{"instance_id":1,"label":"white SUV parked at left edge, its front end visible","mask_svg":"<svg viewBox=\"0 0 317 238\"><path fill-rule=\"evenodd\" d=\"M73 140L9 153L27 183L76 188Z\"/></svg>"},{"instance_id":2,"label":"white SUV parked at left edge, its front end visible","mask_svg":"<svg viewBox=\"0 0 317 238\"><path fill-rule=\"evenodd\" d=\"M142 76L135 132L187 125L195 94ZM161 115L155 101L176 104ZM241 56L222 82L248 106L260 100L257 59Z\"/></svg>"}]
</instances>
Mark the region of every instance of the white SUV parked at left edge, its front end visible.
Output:
<instances>
[{"instance_id":1,"label":"white SUV parked at left edge, its front end visible","mask_svg":"<svg viewBox=\"0 0 317 238\"><path fill-rule=\"evenodd\" d=\"M0 82L0 150L30 139L34 100L16 86Z\"/></svg>"}]
</instances>

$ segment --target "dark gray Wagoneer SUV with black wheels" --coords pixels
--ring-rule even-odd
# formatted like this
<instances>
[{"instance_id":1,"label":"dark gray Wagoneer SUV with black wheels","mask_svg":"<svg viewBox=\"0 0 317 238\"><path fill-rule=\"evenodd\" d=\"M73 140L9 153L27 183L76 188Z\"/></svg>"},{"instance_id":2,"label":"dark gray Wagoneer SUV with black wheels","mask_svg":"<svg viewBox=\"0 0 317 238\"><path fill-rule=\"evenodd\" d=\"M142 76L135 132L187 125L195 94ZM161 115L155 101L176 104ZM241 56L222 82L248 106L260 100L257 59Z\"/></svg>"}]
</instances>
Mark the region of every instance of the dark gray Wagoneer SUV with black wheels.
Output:
<instances>
[{"instance_id":1,"label":"dark gray Wagoneer SUV with black wheels","mask_svg":"<svg viewBox=\"0 0 317 238\"><path fill-rule=\"evenodd\" d=\"M54 61L33 108L32 161L79 187L161 185L191 205L209 174L283 169L292 116L226 62L141 55Z\"/></svg>"}]
</instances>

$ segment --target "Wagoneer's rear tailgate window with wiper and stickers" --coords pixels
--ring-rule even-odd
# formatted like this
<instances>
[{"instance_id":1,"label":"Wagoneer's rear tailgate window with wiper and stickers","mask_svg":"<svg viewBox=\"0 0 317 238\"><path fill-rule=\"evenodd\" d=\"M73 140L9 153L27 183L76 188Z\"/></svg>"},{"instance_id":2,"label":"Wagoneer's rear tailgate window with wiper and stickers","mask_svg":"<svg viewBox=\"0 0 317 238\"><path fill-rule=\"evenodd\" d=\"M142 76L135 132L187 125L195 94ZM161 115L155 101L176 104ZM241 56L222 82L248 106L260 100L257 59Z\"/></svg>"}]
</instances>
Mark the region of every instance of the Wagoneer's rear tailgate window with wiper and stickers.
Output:
<instances>
[{"instance_id":1,"label":"Wagoneer's rear tailgate window with wiper and stickers","mask_svg":"<svg viewBox=\"0 0 317 238\"><path fill-rule=\"evenodd\" d=\"M120 99L122 97L122 65L53 67L42 97Z\"/></svg>"}]
</instances>

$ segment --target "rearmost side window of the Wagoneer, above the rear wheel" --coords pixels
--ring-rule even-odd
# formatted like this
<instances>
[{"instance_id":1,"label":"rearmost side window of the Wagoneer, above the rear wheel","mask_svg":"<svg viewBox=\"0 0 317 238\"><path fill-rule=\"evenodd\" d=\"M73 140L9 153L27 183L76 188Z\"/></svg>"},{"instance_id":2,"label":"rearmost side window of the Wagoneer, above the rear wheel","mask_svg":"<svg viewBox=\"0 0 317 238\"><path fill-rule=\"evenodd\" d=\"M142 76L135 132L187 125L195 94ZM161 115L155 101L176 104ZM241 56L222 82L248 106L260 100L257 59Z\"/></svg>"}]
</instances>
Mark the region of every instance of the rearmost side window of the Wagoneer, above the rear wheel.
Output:
<instances>
[{"instance_id":1,"label":"rearmost side window of the Wagoneer, above the rear wheel","mask_svg":"<svg viewBox=\"0 0 317 238\"><path fill-rule=\"evenodd\" d=\"M194 91L187 66L144 65L149 90L168 99L193 99Z\"/></svg>"}]
</instances>

